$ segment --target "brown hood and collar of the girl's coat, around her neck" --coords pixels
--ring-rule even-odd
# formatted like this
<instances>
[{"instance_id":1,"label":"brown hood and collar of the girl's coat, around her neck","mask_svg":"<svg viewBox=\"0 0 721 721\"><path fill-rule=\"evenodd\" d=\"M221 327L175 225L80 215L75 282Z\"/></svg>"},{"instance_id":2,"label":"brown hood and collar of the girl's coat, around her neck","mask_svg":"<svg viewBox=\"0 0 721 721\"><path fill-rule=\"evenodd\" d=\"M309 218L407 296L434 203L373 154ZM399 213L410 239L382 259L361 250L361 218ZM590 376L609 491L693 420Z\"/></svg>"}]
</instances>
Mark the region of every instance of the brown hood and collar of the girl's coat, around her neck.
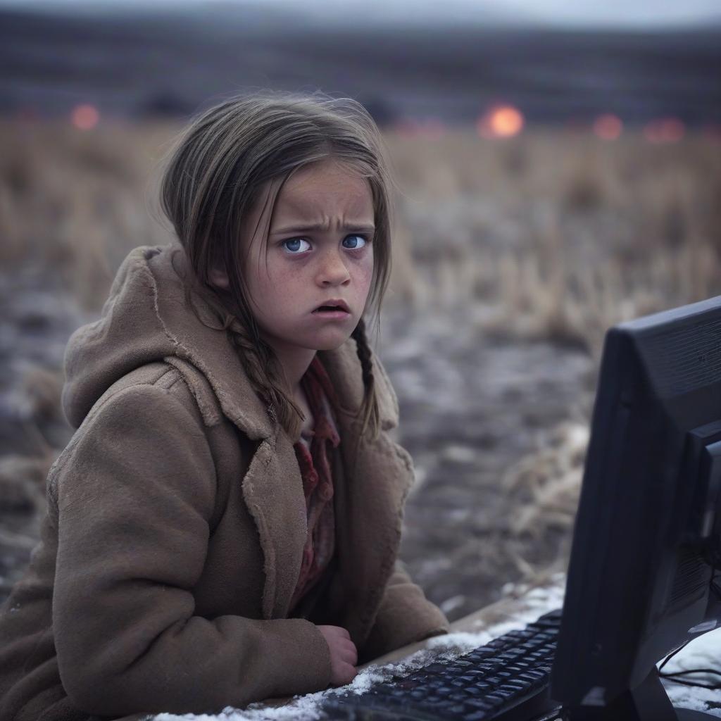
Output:
<instances>
[{"instance_id":1,"label":"brown hood and collar of the girl's coat, around her neck","mask_svg":"<svg viewBox=\"0 0 721 721\"><path fill-rule=\"evenodd\" d=\"M164 361L182 368L187 379L202 375L223 414L249 438L273 434L265 404L252 389L211 306L193 295L200 322L185 304L182 277L191 272L185 249L177 242L137 247L125 257L101 317L77 329L68 340L62 405L73 428L115 381L146 363ZM355 340L318 355L342 407L357 412L363 381ZM372 360L381 428L388 430L398 423L397 397L375 354ZM200 410L212 413L208 408Z\"/></svg>"}]
</instances>

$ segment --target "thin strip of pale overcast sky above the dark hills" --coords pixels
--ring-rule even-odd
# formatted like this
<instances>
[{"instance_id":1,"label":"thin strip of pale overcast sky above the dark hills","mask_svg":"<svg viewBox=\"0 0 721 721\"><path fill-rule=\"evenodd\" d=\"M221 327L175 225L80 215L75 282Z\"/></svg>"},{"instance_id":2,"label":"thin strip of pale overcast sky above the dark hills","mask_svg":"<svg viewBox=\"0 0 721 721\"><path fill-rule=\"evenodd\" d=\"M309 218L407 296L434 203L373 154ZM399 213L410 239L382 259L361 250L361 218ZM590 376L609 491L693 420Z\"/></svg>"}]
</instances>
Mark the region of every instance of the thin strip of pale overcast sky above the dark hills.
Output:
<instances>
[{"instance_id":1,"label":"thin strip of pale overcast sky above the dark hills","mask_svg":"<svg viewBox=\"0 0 721 721\"><path fill-rule=\"evenodd\" d=\"M100 11L121 7L157 9L167 5L242 6L245 0L0 0L1 6ZM552 25L668 27L721 22L719 0L604 0L572 3L568 0L261 0L270 6L292 6L318 19L327 16L337 22L348 11L363 16L399 22L404 18L454 19L467 21L496 19L513 22L541 22Z\"/></svg>"}]
</instances>

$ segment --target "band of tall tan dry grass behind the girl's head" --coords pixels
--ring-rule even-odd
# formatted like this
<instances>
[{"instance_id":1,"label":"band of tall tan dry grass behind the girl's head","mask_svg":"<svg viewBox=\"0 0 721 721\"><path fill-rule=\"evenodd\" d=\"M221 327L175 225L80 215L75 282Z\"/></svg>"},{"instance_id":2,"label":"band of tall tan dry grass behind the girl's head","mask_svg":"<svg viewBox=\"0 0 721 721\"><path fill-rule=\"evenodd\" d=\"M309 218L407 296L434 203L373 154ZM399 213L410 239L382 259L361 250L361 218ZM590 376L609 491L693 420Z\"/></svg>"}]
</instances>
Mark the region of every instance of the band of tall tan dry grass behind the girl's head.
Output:
<instances>
[{"instance_id":1,"label":"band of tall tan dry grass behind the girl's head","mask_svg":"<svg viewBox=\"0 0 721 721\"><path fill-rule=\"evenodd\" d=\"M97 311L118 262L169 239L154 180L177 128L0 123L0 262ZM399 177L391 301L479 304L510 335L597 350L610 322L719 287L721 143L536 131L386 133Z\"/></svg>"}]
</instances>

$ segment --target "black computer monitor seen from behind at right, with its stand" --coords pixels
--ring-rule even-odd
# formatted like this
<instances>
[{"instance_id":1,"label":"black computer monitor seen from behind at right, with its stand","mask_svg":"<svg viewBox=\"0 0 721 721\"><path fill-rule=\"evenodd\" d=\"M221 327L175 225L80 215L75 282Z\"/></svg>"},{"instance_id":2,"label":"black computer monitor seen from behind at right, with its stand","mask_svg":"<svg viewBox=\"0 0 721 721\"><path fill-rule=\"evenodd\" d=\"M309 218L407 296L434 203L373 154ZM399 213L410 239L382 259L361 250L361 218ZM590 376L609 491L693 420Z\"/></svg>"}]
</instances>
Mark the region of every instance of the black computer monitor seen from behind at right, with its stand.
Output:
<instances>
[{"instance_id":1,"label":"black computer monitor seen from behind at right, with its stand","mask_svg":"<svg viewBox=\"0 0 721 721\"><path fill-rule=\"evenodd\" d=\"M712 718L656 663L720 622L720 487L721 296L611 328L551 676L568 719Z\"/></svg>"}]
</instances>

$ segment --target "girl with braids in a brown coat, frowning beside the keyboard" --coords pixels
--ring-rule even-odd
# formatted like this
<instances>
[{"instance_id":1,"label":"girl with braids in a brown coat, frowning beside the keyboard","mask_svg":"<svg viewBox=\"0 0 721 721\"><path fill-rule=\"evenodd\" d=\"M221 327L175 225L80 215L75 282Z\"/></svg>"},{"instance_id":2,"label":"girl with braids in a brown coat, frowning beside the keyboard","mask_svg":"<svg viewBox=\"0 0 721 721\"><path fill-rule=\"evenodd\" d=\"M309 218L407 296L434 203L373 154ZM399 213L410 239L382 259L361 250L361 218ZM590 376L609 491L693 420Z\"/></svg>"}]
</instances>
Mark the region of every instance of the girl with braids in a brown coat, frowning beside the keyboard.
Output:
<instances>
[{"instance_id":1,"label":"girl with braids in a brown coat, frowning beside the keyboard","mask_svg":"<svg viewBox=\"0 0 721 721\"><path fill-rule=\"evenodd\" d=\"M0 614L0 719L88 721L347 684L448 631L397 563L412 461L368 346L389 180L357 102L231 99L185 131L162 205L68 342L76 433Z\"/></svg>"}]
</instances>

